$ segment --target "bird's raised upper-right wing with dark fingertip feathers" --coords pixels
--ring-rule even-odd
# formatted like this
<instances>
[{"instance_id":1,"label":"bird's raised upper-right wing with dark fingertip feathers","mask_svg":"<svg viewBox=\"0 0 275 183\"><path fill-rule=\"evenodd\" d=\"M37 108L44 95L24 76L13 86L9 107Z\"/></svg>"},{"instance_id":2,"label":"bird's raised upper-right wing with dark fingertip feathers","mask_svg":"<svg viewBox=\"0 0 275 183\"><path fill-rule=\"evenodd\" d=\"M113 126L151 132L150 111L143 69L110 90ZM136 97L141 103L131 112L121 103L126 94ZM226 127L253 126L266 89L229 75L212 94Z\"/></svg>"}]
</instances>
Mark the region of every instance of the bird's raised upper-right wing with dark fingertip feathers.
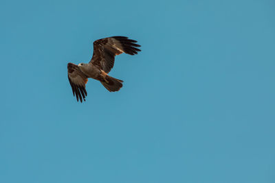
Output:
<instances>
[{"instance_id":1,"label":"bird's raised upper-right wing with dark fingertip feathers","mask_svg":"<svg viewBox=\"0 0 275 183\"><path fill-rule=\"evenodd\" d=\"M131 40L124 36L113 36L109 38L102 38L94 42L94 53L89 63L98 66L105 73L109 73L113 68L115 56L121 53L130 55L137 54L136 47L140 45L135 44L136 40Z\"/></svg>"}]
</instances>

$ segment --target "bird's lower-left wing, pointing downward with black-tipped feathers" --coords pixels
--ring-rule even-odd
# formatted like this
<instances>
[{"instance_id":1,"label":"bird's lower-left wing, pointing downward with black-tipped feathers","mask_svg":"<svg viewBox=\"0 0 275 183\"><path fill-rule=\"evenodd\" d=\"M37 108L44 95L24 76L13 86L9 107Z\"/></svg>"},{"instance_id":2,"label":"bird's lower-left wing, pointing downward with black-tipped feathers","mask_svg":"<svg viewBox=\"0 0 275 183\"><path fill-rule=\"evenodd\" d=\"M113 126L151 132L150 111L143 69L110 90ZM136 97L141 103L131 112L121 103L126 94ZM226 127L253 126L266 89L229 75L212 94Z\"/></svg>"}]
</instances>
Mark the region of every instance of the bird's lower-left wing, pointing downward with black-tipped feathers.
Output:
<instances>
[{"instance_id":1,"label":"bird's lower-left wing, pointing downward with black-tipped feathers","mask_svg":"<svg viewBox=\"0 0 275 183\"><path fill-rule=\"evenodd\" d=\"M76 95L77 101L78 98L81 102L83 100L85 101L85 97L87 96L87 91L85 89L85 84L88 82L87 77L80 71L76 64L69 63L67 68L69 84L72 86L74 96Z\"/></svg>"}]
</instances>

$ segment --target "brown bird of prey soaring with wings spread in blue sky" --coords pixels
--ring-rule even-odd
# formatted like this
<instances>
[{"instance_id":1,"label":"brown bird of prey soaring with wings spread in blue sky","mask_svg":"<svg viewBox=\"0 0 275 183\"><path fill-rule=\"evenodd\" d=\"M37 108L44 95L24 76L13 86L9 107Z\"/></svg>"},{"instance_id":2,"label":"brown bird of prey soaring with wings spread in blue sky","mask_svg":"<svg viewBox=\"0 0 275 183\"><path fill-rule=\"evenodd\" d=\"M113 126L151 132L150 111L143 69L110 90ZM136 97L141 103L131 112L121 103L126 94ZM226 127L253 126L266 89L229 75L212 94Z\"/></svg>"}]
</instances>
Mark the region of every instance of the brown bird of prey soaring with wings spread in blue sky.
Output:
<instances>
[{"instance_id":1,"label":"brown bird of prey soaring with wings spread in blue sky","mask_svg":"<svg viewBox=\"0 0 275 183\"><path fill-rule=\"evenodd\" d=\"M110 92L120 90L122 80L118 80L108 75L113 68L115 56L121 53L129 55L137 54L136 40L131 40L124 36L113 36L102 38L94 42L94 53L91 61L87 64L80 63L78 65L68 63L68 78L69 84L72 86L72 91L76 99L82 102L87 96L86 86L88 78L93 78L101 82L101 84Z\"/></svg>"}]
</instances>

